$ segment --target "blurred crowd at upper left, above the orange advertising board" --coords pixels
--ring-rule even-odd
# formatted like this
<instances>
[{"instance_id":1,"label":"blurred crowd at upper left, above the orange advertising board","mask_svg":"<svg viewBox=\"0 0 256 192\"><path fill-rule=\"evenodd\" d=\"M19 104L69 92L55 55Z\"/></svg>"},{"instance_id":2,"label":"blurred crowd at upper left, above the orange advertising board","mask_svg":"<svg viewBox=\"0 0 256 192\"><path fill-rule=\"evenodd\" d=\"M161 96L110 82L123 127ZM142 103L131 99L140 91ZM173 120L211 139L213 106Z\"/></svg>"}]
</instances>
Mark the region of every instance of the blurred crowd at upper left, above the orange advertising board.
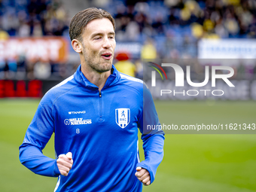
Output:
<instances>
[{"instance_id":1,"label":"blurred crowd at upper left, above the orange advertising board","mask_svg":"<svg viewBox=\"0 0 256 192\"><path fill-rule=\"evenodd\" d=\"M67 18L60 0L0 0L0 38L63 35Z\"/></svg>"}]
</instances>

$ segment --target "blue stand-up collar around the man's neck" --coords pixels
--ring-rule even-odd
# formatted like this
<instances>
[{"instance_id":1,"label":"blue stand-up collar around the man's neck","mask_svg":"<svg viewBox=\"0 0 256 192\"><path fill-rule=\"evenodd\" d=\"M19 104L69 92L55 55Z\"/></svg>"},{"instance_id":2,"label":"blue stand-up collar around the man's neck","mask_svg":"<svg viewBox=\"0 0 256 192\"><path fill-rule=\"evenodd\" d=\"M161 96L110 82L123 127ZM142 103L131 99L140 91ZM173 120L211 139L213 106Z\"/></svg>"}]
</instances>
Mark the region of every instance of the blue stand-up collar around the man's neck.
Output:
<instances>
[{"instance_id":1,"label":"blue stand-up collar around the man's neck","mask_svg":"<svg viewBox=\"0 0 256 192\"><path fill-rule=\"evenodd\" d=\"M87 78L84 76L83 72L81 71L81 65L78 66L78 69L74 74L74 78L75 78L75 81L77 81L78 84L81 84L81 86L83 87L93 87L97 89L99 88L95 84L92 84L90 81L87 80ZM114 65L112 65L111 75L109 75L102 89L105 89L106 87L114 86L114 84L117 84L118 81L120 81L120 72L118 72L117 69L114 67Z\"/></svg>"}]
</instances>

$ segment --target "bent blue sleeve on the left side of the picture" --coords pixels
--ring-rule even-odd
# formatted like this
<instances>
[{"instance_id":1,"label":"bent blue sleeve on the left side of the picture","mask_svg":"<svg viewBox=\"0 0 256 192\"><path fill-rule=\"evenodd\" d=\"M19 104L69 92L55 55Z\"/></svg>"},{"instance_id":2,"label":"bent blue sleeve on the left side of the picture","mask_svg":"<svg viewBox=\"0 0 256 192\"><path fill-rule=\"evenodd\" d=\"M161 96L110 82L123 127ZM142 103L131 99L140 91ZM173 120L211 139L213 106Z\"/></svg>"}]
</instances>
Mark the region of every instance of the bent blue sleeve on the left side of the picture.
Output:
<instances>
[{"instance_id":1,"label":"bent blue sleeve on the left side of the picture","mask_svg":"<svg viewBox=\"0 0 256 192\"><path fill-rule=\"evenodd\" d=\"M23 144L20 145L20 163L39 175L56 177L59 169L56 159L44 156L42 150L53 134L53 117L48 103L42 99L30 123Z\"/></svg>"}]
</instances>

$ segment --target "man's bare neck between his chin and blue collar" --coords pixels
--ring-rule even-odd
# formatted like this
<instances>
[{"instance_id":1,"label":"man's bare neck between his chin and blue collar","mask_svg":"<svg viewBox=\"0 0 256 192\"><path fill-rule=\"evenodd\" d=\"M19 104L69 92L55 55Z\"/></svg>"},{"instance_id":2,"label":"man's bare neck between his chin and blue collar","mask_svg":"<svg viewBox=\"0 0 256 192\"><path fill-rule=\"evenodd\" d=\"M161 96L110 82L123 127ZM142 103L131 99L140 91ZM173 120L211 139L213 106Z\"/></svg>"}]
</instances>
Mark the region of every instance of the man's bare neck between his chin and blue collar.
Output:
<instances>
[{"instance_id":1,"label":"man's bare neck between his chin and blue collar","mask_svg":"<svg viewBox=\"0 0 256 192\"><path fill-rule=\"evenodd\" d=\"M88 81L99 87L99 90L102 90L109 75L111 75L111 70L109 70L108 72L99 73L96 72L94 69L90 69L86 65L81 66L81 71Z\"/></svg>"}]
</instances>

